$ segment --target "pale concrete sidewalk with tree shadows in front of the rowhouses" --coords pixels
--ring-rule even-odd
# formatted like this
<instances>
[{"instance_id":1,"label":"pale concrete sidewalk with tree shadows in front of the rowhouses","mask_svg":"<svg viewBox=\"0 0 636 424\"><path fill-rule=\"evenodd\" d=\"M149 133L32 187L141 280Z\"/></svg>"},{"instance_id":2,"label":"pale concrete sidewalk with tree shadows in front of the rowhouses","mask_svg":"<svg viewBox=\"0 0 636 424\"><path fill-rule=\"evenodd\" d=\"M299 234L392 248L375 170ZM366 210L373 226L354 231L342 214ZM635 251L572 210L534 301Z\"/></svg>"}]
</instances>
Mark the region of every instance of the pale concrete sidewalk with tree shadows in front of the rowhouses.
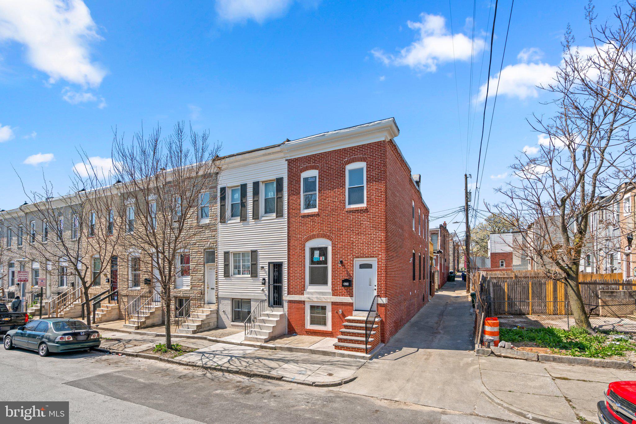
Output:
<instances>
[{"instance_id":1,"label":"pale concrete sidewalk with tree shadows in front of the rowhouses","mask_svg":"<svg viewBox=\"0 0 636 424\"><path fill-rule=\"evenodd\" d=\"M102 332L102 348L113 353L141 355L163 343L163 338L124 332ZM173 337L172 343L195 349L174 357L172 362L227 373L248 374L314 386L340 385L352 379L365 360L265 350L229 343ZM148 353L143 357L148 357ZM158 357L157 357L158 359Z\"/></svg>"}]
</instances>

